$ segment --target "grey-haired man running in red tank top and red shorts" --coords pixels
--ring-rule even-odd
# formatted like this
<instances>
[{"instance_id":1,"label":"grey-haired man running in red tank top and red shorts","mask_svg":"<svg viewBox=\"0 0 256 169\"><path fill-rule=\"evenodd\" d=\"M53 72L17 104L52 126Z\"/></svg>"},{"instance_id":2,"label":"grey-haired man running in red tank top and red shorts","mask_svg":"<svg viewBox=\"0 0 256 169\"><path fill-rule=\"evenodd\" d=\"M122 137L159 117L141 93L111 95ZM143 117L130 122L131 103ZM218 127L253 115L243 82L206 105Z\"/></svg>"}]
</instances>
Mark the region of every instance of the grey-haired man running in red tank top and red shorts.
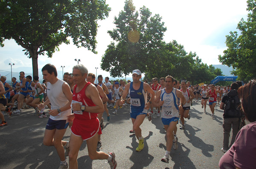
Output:
<instances>
[{"instance_id":1,"label":"grey-haired man running in red tank top and red shorts","mask_svg":"<svg viewBox=\"0 0 256 169\"><path fill-rule=\"evenodd\" d=\"M84 65L73 67L73 87L72 109L73 114L68 116L68 121L73 121L70 135L70 168L78 169L77 156L81 144L84 140L87 143L87 149L90 159L106 159L111 169L116 169L115 154L113 152L97 152L98 135L101 134L98 113L104 112L102 100L99 92L94 85L87 82L88 70Z\"/></svg>"}]
</instances>

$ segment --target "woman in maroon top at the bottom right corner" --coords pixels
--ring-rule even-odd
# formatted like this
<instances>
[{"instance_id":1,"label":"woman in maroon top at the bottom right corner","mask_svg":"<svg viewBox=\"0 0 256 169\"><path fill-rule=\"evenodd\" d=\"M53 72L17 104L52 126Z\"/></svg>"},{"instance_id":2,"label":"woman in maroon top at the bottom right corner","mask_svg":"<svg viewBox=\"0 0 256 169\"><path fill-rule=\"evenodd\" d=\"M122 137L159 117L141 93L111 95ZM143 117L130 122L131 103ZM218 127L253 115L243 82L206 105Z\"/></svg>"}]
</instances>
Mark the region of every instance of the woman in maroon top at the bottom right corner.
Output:
<instances>
[{"instance_id":1,"label":"woman in maroon top at the bottom right corner","mask_svg":"<svg viewBox=\"0 0 256 169\"><path fill-rule=\"evenodd\" d=\"M244 126L236 135L235 143L221 157L220 169L256 168L256 80L239 88L241 108L250 124Z\"/></svg>"}]
</instances>

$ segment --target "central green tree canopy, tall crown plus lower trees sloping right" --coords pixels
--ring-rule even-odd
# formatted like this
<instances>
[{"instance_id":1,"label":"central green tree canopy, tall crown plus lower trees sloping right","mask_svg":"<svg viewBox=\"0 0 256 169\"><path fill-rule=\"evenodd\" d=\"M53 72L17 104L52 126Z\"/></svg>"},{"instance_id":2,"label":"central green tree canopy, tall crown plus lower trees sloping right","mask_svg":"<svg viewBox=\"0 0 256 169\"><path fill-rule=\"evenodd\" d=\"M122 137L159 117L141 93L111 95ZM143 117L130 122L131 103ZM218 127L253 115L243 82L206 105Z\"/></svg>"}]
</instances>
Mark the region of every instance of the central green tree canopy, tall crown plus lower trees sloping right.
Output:
<instances>
[{"instance_id":1,"label":"central green tree canopy, tall crown plus lower trees sloping right","mask_svg":"<svg viewBox=\"0 0 256 169\"><path fill-rule=\"evenodd\" d=\"M187 54L175 40L164 42L167 29L161 19L159 14L152 16L145 6L136 11L132 0L126 0L124 10L114 18L116 28L108 31L113 42L102 56L102 70L122 77L140 69L145 79L171 75L193 83L209 83L222 75L220 69L202 63L196 53Z\"/></svg>"}]
</instances>

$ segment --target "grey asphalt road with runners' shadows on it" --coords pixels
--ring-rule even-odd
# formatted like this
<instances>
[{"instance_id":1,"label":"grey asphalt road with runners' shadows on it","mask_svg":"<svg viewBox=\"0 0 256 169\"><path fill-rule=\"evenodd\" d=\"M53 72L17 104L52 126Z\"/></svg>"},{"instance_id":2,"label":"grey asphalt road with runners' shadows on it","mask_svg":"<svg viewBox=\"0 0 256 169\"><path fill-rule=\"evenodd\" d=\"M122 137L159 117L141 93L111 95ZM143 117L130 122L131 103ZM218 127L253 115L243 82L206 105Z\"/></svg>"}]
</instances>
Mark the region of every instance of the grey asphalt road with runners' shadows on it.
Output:
<instances>
[{"instance_id":1,"label":"grey asphalt road with runners' shadows on it","mask_svg":"<svg viewBox=\"0 0 256 169\"><path fill-rule=\"evenodd\" d=\"M165 130L160 117L153 115L152 121L145 118L141 125L145 147L136 152L138 145L132 129L129 109L123 107L106 121L102 134L101 151L115 152L117 169L216 169L223 152L222 114L219 105L215 107L215 119L201 108L201 102L193 102L191 119L186 120L186 130L177 131L178 149L170 153L169 163L161 162L166 152ZM60 160L54 147L42 144L47 118L34 116L32 109L23 110L20 115L7 118L8 126L0 127L0 169L58 169ZM178 128L180 124L177 125ZM63 140L69 140L70 129ZM68 157L67 157L68 161ZM106 160L90 160L84 142L79 151L79 169L108 169Z\"/></svg>"}]
</instances>

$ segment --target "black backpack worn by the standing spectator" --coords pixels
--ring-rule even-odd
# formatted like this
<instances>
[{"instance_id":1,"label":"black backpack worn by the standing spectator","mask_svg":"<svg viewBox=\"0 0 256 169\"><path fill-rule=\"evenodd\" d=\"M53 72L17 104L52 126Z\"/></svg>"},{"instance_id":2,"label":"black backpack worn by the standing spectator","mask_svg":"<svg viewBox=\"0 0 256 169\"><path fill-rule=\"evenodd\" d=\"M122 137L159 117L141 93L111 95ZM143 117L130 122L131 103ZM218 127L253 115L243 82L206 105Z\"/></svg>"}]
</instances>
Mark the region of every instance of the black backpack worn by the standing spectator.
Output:
<instances>
[{"instance_id":1,"label":"black backpack worn by the standing spectator","mask_svg":"<svg viewBox=\"0 0 256 169\"><path fill-rule=\"evenodd\" d=\"M236 96L230 96L227 98L224 108L224 114L233 117L241 117L241 111L239 110L240 99Z\"/></svg>"}]
</instances>

